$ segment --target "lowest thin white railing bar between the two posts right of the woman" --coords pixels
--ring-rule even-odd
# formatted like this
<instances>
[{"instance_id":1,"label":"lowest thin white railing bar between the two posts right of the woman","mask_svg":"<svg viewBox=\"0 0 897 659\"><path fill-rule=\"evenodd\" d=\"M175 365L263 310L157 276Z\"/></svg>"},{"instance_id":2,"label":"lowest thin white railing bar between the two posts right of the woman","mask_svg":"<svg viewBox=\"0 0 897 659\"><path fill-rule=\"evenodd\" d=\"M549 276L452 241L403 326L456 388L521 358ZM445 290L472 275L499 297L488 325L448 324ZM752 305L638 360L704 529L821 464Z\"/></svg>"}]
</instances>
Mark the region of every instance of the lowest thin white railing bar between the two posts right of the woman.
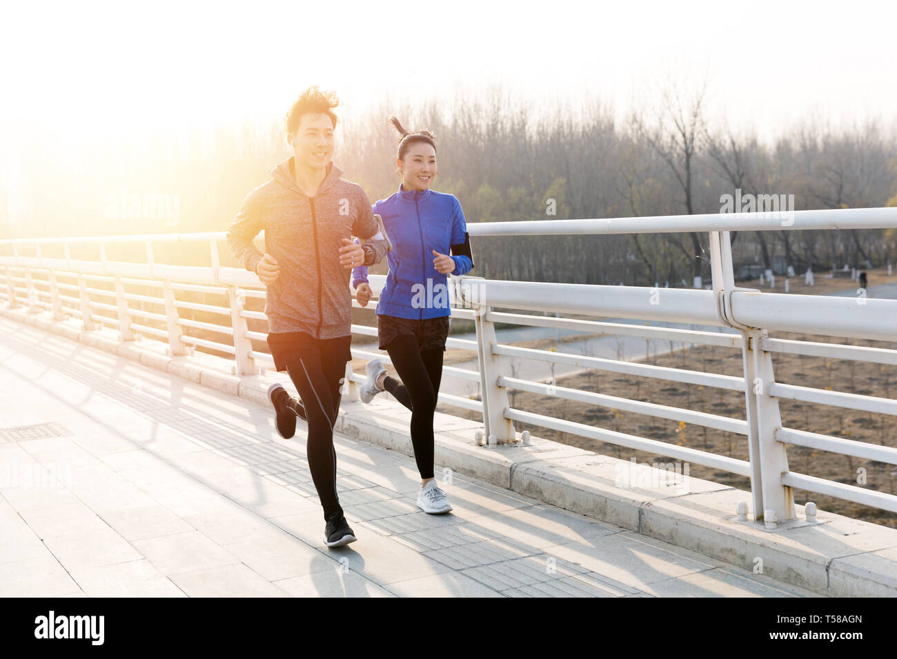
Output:
<instances>
[{"instance_id":1,"label":"lowest thin white railing bar between the two posts right of the woman","mask_svg":"<svg viewBox=\"0 0 897 659\"><path fill-rule=\"evenodd\" d=\"M668 457L675 457L686 462L701 464L705 467L720 469L728 473L736 473L739 476L751 475L750 464L744 460L736 460L735 458L727 457L725 455L713 455L712 453L705 453L704 451L698 451L693 448L677 447L675 444L667 444L666 442L661 442L657 439L635 437L634 435L627 435L623 432L616 432L615 430L594 428L583 423L564 421L542 414L515 410L514 408L505 410L504 416L511 421L531 423L534 426L541 426L543 428L557 430L558 432L569 432L573 435L597 439L620 447L634 448L639 451L646 451L658 455L667 455Z\"/></svg>"}]
</instances>

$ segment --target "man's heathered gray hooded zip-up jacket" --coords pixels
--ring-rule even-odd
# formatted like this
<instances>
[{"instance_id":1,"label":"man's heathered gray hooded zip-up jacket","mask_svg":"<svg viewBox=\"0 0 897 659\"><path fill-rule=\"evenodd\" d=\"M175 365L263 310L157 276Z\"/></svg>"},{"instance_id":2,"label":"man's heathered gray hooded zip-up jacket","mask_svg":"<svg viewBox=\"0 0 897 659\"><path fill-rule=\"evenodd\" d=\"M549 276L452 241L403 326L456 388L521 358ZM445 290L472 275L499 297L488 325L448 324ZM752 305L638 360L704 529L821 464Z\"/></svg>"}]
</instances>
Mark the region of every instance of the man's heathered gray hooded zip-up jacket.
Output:
<instances>
[{"instance_id":1,"label":"man's heathered gray hooded zip-up jacket","mask_svg":"<svg viewBox=\"0 0 897 659\"><path fill-rule=\"evenodd\" d=\"M292 158L271 170L272 179L250 192L227 232L228 245L247 270L262 256L252 244L265 230L265 251L280 273L267 287L268 332L306 332L318 339L352 334L351 271L339 263L341 238L361 238L365 265L379 263L385 239L372 238L379 224L363 188L340 178L331 162L314 197L296 186Z\"/></svg>"}]
</instances>

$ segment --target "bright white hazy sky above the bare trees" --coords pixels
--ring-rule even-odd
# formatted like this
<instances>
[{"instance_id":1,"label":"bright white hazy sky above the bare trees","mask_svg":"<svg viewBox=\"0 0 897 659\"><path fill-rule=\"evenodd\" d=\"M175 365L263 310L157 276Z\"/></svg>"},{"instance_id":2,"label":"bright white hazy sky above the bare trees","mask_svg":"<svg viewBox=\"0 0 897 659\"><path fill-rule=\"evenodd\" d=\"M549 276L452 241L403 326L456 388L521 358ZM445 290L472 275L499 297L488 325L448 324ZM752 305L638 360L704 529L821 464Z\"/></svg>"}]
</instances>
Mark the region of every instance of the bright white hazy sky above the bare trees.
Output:
<instances>
[{"instance_id":1,"label":"bright white hazy sky above the bare trees","mask_svg":"<svg viewBox=\"0 0 897 659\"><path fill-rule=\"evenodd\" d=\"M897 117L888 2L252 2L4 5L5 129L276 120L312 83L346 116L500 84L533 108L623 117L669 81L762 138L810 117ZM9 63L12 63L10 65ZM544 110L547 111L547 110ZM54 128L56 126L56 128Z\"/></svg>"}]
</instances>

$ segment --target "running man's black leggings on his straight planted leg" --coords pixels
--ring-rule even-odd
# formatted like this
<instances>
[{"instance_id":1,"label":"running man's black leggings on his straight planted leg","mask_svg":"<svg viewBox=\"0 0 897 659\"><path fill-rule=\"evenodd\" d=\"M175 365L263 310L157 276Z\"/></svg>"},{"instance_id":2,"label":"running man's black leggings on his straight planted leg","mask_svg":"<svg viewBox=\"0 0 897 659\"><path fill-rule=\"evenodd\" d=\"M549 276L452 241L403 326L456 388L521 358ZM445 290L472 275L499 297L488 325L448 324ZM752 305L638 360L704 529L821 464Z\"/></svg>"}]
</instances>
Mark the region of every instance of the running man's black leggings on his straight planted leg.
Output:
<instances>
[{"instance_id":1,"label":"running man's black leggings on his straight planted leg","mask_svg":"<svg viewBox=\"0 0 897 659\"><path fill-rule=\"evenodd\" d=\"M327 519L336 511L343 512L336 494L333 429L342 397L340 380L345 377L345 360L339 354L309 351L287 364L286 369L302 399L301 403L293 403L296 412L309 424L306 451L311 480L315 482L318 498L324 507L324 518Z\"/></svg>"}]
</instances>

